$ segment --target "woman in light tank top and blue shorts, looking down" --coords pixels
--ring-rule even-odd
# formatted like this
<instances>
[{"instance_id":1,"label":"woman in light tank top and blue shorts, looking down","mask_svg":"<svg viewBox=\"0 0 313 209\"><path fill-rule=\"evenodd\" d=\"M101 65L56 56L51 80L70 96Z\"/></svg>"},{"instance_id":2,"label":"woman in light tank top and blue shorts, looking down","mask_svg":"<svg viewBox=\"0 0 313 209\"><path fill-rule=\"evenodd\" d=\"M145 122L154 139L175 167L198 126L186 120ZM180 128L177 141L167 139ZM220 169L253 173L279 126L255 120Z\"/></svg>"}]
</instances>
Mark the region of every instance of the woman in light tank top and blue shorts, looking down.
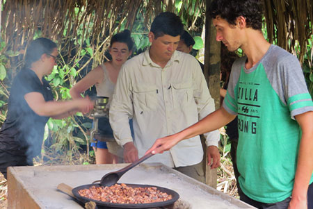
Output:
<instances>
[{"instance_id":1,"label":"woman in light tank top and blue shorts, looking down","mask_svg":"<svg viewBox=\"0 0 313 209\"><path fill-rule=\"evenodd\" d=\"M110 103L120 68L131 55L133 45L134 42L131 40L129 30L113 35L109 47L109 53L112 56L112 60L99 65L90 71L83 79L81 79L81 81L74 85L70 90L72 98L81 98L82 92L85 92L89 87L95 85L97 89L97 96L109 97ZM99 119L99 130L114 138L112 128L109 124L109 119ZM99 141L97 144L92 143L91 146L95 150L97 164L118 162L119 153L122 155L122 150L118 149L118 144L115 142ZM95 149L96 147L97 149Z\"/></svg>"}]
</instances>

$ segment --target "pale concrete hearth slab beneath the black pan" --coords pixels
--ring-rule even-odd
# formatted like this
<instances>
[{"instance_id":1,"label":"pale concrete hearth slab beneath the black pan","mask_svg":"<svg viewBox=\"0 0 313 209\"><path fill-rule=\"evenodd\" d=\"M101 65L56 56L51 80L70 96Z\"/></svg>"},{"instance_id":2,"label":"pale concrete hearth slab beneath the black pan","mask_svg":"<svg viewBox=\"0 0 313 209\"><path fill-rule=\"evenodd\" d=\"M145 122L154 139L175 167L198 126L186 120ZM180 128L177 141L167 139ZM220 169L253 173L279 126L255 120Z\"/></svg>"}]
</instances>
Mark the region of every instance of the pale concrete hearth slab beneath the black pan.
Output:
<instances>
[{"instance_id":1,"label":"pale concrete hearth slab beneath the black pan","mask_svg":"<svg viewBox=\"0 0 313 209\"><path fill-rule=\"evenodd\" d=\"M72 197L57 190L60 183L77 187L99 180L127 164L10 167L8 208L82 208ZM167 187L179 193L188 208L252 208L223 192L159 163L143 163L120 178L119 183ZM186 208L186 207L185 207Z\"/></svg>"}]
</instances>

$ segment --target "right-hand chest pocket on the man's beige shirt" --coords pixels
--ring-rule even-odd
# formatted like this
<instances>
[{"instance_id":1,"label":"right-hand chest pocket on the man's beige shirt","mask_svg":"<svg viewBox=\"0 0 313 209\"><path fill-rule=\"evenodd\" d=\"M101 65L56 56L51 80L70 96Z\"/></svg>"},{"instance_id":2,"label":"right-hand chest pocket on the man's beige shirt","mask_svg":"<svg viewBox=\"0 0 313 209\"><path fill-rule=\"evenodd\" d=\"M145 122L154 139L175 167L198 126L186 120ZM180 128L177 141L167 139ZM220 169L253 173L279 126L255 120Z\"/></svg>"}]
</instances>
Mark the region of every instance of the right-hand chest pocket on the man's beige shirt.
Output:
<instances>
[{"instance_id":1,"label":"right-hand chest pocket on the man's beige shirt","mask_svg":"<svg viewBox=\"0 0 313 209\"><path fill-rule=\"evenodd\" d=\"M193 101L193 83L191 81L172 84L172 99L175 108L188 106Z\"/></svg>"}]
</instances>

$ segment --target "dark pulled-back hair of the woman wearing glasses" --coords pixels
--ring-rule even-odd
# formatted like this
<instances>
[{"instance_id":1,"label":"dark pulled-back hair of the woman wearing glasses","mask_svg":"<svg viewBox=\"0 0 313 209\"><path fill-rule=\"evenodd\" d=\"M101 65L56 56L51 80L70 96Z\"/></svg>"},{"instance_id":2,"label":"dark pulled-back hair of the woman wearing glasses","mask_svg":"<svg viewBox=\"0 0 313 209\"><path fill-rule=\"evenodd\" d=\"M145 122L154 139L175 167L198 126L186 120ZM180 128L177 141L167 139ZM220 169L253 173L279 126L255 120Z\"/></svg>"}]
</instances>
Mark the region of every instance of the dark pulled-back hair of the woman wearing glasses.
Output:
<instances>
[{"instance_id":1,"label":"dark pulled-back hair of the woman wearing glasses","mask_svg":"<svg viewBox=\"0 0 313 209\"><path fill-rule=\"evenodd\" d=\"M48 38L39 37L38 39L33 40L26 49L25 66L31 67L31 64L39 60L44 53L50 56L55 48L56 43Z\"/></svg>"}]
</instances>

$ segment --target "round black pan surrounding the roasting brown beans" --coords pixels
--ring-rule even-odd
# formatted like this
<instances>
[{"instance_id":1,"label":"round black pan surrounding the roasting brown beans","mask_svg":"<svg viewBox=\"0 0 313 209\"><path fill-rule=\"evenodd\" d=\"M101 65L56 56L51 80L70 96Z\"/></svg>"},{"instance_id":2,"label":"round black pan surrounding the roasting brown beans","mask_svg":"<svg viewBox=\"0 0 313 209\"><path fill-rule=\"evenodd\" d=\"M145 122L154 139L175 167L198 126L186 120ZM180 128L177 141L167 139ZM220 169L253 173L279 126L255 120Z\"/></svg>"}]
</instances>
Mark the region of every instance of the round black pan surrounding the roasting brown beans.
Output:
<instances>
[{"instance_id":1,"label":"round black pan surrounding the roasting brown beans","mask_svg":"<svg viewBox=\"0 0 313 209\"><path fill-rule=\"evenodd\" d=\"M75 187L72 192L74 196L79 199L79 201L82 201L83 203L86 203L88 201L93 201L97 204L97 206L104 206L108 208L156 208L156 207L162 207L162 206L170 206L172 203L175 203L177 199L179 199L179 194L175 192L174 190L170 190L164 187L158 187L154 185L140 185L140 184L126 184L129 187L157 187L157 190L160 192L166 192L167 194L172 195L172 199L168 201L163 202L157 202L157 203L140 203L140 204L118 204L118 203L108 203L104 201L97 201L94 199L89 199L86 197L81 197L81 195L78 193L79 190L88 189L89 187L95 186L100 187L99 183L96 184L88 184L88 185L81 185L79 187Z\"/></svg>"}]
</instances>

